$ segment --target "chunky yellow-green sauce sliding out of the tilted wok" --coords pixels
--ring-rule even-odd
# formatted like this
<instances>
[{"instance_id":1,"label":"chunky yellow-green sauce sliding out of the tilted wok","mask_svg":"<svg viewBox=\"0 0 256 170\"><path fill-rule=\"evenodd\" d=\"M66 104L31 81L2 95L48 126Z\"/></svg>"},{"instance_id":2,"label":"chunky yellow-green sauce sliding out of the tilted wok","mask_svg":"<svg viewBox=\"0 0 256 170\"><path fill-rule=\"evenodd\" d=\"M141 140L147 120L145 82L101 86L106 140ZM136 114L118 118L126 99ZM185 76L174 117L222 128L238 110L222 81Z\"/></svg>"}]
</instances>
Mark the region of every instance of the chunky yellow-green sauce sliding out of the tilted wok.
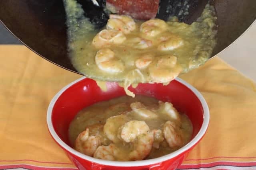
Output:
<instances>
[{"instance_id":1,"label":"chunky yellow-green sauce sliding out of the tilted wok","mask_svg":"<svg viewBox=\"0 0 256 170\"><path fill-rule=\"evenodd\" d=\"M127 87L133 83L160 82L168 84L178 74L188 72L198 66L204 64L212 54L216 45L216 14L213 6L206 5L202 16L197 21L188 25L180 23L177 19L171 18L168 22L167 31L157 35L156 37L147 37L153 45L146 49L137 49L130 43L131 39L136 37L144 38L140 33L140 25L142 21L136 21L137 28L132 33L125 35L126 41L120 45L112 45L108 47L115 53L115 57L124 63L124 70L118 73L111 73L101 70L95 62L95 56L99 48L92 45L92 39L100 31L83 16L83 10L75 0L64 0L67 13L68 26L68 47L70 57L74 67L89 78L100 81L115 81L124 82L126 92L130 96ZM183 45L173 50L161 51L157 49L157 43L154 43L160 36L167 37L168 34L173 34L182 39ZM144 54L152 54L154 56L152 63L146 69L137 69L134 61L139 59ZM176 65L180 66L181 70L172 68L163 68L162 74L174 72L172 78L164 80L156 80L150 76L150 68L157 65L157 61L162 56L175 56L177 59ZM165 70L164 70L165 69ZM158 71L158 68L153 71ZM151 69L151 72L153 72ZM159 72L158 74L161 74Z\"/></svg>"}]
</instances>

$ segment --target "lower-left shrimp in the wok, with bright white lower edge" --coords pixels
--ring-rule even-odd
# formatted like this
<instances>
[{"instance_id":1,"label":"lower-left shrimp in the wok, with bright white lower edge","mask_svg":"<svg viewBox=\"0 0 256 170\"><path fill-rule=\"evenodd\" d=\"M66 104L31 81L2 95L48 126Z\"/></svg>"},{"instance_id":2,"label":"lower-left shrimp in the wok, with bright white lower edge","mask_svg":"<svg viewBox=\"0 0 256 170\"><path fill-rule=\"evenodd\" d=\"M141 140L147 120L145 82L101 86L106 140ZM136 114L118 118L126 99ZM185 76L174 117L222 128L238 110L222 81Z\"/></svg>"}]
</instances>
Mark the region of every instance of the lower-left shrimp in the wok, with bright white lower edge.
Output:
<instances>
[{"instance_id":1,"label":"lower-left shrimp in the wok, with bright white lower edge","mask_svg":"<svg viewBox=\"0 0 256 170\"><path fill-rule=\"evenodd\" d=\"M95 63L103 71L108 73L119 73L124 71L124 63L115 57L114 51L100 49L95 56Z\"/></svg>"}]
</instances>

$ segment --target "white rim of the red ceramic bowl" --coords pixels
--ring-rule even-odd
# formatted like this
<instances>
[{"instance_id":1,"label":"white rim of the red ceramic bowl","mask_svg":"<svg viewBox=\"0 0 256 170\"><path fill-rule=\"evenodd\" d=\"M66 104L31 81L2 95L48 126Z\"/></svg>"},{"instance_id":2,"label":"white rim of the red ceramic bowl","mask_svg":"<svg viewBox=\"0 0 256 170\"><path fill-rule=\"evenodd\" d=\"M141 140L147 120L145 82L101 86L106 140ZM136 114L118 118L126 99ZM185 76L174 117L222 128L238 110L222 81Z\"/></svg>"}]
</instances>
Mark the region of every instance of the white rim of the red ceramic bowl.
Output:
<instances>
[{"instance_id":1,"label":"white rim of the red ceramic bowl","mask_svg":"<svg viewBox=\"0 0 256 170\"><path fill-rule=\"evenodd\" d=\"M83 76L73 82L71 82L70 84L68 84L67 86L65 86L64 88L62 88L51 100L49 107L47 109L47 126L48 126L48 130L50 132L50 135L52 136L52 138L54 139L54 141L56 141L56 143L58 143L58 145L60 145L63 149L65 149L66 151L82 158L85 160L88 160L90 162L94 162L97 164L102 164L102 165L107 165L107 166L122 166L122 167L132 167L132 166L147 166L147 165L151 165L151 164L158 164L160 162L164 162L166 160L169 160L171 158L174 158L175 156L178 156L179 154L182 154L183 152L186 152L187 150L191 149L194 145L196 145L204 136L204 134L206 133L206 130L208 128L209 125L209 121L210 121L210 112L209 112L209 108L208 105L206 103L206 100L204 99L204 97L202 96L202 94L200 94L200 92L198 90L196 90L196 88L194 88L192 85L188 84L186 81L182 80L181 78L175 78L176 81L180 82L181 84L185 85L186 87L188 87L200 100L202 107L203 107L203 111L204 111L204 115L203 115L203 123L202 123L202 127L200 128L199 132L196 134L196 136L189 142L187 143L185 146L183 146L182 148L158 157L158 158L153 158L153 159L148 159L148 160L138 160L138 161L110 161L110 160L101 160L101 159L97 159L97 158L93 158L91 156L87 156L85 154L82 154L78 151L76 151L75 149L73 149L72 147L68 146L66 143L64 143L64 141L62 141L60 139L60 137L57 135L57 133L54 130L54 127L52 125L52 109L54 107L54 104L56 103L56 101L58 100L58 98L60 97L60 95L66 91L68 88L70 88L70 86L72 86L73 84L76 84L77 82L80 82L81 80L84 80L86 77Z\"/></svg>"}]
</instances>

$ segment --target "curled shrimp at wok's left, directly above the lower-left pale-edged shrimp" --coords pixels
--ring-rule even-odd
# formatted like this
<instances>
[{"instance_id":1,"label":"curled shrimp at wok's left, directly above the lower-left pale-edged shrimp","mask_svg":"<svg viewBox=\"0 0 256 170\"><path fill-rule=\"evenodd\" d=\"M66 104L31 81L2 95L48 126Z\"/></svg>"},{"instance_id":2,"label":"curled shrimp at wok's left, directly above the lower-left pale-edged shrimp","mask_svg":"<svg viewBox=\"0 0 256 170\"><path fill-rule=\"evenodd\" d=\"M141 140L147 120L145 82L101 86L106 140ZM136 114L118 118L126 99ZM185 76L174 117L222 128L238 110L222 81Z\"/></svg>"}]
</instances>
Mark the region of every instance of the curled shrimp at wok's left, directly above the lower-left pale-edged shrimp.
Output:
<instances>
[{"instance_id":1,"label":"curled shrimp at wok's left, directly above the lower-left pale-edged shrimp","mask_svg":"<svg viewBox=\"0 0 256 170\"><path fill-rule=\"evenodd\" d=\"M122 44L126 40L122 31L114 29L103 29L92 40L92 45L98 49Z\"/></svg>"}]
</instances>

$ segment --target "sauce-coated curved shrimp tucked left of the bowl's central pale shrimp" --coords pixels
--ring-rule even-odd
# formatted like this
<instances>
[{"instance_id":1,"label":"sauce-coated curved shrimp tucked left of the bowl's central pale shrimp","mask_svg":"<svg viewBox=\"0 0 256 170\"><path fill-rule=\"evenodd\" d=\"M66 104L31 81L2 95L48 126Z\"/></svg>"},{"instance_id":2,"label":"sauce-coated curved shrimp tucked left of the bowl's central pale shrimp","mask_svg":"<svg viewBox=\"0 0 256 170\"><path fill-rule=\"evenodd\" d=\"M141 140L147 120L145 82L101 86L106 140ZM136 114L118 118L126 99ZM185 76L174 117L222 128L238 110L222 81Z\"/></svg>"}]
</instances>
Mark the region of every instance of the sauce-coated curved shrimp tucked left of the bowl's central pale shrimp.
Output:
<instances>
[{"instance_id":1,"label":"sauce-coated curved shrimp tucked left of the bowl's central pale shrimp","mask_svg":"<svg viewBox=\"0 0 256 170\"><path fill-rule=\"evenodd\" d=\"M120 139L118 138L118 129L128 121L129 118L125 114L109 117L103 128L105 135L113 143L120 142Z\"/></svg>"}]
</instances>

